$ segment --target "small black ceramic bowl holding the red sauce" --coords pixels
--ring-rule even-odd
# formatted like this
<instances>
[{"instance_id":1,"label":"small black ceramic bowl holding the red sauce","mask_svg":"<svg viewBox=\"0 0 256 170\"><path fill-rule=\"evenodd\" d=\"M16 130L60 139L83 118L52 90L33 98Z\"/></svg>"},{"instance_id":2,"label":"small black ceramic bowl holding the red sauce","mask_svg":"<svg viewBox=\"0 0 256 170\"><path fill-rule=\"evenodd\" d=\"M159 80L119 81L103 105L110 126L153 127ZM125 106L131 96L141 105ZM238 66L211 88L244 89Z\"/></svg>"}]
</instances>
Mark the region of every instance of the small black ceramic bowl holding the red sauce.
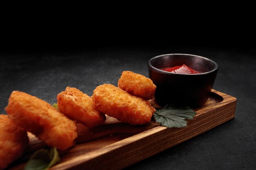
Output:
<instances>
[{"instance_id":1,"label":"small black ceramic bowl holding the red sauce","mask_svg":"<svg viewBox=\"0 0 256 170\"><path fill-rule=\"evenodd\" d=\"M183 64L202 73L181 74L159 69ZM157 86L155 100L162 106L167 103L193 108L201 106L209 98L217 72L216 62L198 55L164 54L148 61L149 78Z\"/></svg>"}]
</instances>

